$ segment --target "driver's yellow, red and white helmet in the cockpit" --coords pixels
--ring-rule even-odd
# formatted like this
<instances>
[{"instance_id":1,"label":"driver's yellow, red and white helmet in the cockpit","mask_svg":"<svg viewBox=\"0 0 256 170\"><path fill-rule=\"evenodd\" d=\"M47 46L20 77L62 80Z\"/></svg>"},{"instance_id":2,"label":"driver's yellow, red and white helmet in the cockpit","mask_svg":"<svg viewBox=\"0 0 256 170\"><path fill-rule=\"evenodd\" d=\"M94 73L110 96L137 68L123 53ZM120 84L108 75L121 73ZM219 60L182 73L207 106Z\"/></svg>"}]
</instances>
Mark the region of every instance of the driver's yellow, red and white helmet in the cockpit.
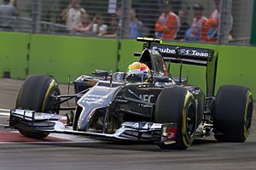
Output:
<instances>
[{"instance_id":1,"label":"driver's yellow, red and white helmet in the cockpit","mask_svg":"<svg viewBox=\"0 0 256 170\"><path fill-rule=\"evenodd\" d=\"M147 65L134 62L128 66L125 78L128 82L149 82L150 77L150 70Z\"/></svg>"}]
</instances>

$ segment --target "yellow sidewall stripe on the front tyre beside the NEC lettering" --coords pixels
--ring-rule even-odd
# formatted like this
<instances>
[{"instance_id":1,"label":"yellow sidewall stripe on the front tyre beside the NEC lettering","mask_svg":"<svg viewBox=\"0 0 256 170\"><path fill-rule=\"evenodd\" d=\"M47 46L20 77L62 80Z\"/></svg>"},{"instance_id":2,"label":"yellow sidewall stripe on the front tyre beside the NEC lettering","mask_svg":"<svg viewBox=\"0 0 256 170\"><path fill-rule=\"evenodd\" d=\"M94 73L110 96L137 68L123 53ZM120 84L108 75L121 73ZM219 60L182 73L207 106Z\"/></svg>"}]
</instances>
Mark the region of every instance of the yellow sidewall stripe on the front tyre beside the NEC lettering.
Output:
<instances>
[{"instance_id":1,"label":"yellow sidewall stripe on the front tyre beside the NEC lettering","mask_svg":"<svg viewBox=\"0 0 256 170\"><path fill-rule=\"evenodd\" d=\"M182 135L183 135L183 143L184 145L188 148L190 146L190 144L188 143L187 139L186 139L186 133L187 133L187 103L189 101L189 98L194 99L193 94L191 94L189 91L186 94L186 97L184 99L184 105L183 105L183 124L182 124Z\"/></svg>"}]
</instances>

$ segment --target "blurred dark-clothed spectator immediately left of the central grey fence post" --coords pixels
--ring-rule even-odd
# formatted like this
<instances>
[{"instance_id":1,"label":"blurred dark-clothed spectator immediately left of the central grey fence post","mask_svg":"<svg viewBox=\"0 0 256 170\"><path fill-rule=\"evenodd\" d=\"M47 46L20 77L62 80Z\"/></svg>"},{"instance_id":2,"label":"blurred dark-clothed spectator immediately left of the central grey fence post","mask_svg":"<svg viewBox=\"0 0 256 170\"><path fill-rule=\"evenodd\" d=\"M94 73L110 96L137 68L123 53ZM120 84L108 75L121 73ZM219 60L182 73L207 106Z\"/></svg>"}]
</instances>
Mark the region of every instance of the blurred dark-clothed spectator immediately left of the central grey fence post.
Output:
<instances>
[{"instance_id":1,"label":"blurred dark-clothed spectator immediately left of the central grey fence post","mask_svg":"<svg viewBox=\"0 0 256 170\"><path fill-rule=\"evenodd\" d=\"M108 31L104 35L105 37L118 37L119 35L119 19L116 14L113 14L109 20Z\"/></svg>"}]
</instances>

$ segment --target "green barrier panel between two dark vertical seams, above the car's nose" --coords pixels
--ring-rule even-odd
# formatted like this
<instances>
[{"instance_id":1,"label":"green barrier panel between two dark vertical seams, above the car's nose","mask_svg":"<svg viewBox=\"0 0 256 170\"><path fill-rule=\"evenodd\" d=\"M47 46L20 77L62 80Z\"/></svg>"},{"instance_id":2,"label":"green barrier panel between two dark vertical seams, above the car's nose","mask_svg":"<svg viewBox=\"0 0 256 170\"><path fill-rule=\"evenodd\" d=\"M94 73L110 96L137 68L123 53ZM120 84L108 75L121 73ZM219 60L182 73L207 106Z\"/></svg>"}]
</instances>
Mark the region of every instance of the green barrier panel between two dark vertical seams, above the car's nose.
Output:
<instances>
[{"instance_id":1,"label":"green barrier panel between two dark vertical seams, above the car's nose","mask_svg":"<svg viewBox=\"0 0 256 170\"><path fill-rule=\"evenodd\" d=\"M33 35L29 74L45 74L59 82L95 69L115 71L117 41L90 37Z\"/></svg>"}]
</instances>

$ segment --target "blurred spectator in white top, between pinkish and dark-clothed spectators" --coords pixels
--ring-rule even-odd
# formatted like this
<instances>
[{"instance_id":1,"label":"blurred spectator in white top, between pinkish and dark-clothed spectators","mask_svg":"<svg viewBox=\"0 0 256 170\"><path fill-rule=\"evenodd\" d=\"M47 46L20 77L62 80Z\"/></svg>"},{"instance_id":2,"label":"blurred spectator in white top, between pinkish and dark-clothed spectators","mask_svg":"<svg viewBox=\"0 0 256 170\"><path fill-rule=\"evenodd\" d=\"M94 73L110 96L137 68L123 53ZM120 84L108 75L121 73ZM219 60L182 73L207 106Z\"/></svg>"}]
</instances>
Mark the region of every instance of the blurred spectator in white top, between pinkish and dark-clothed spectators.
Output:
<instances>
[{"instance_id":1,"label":"blurred spectator in white top, between pinkish and dark-clothed spectators","mask_svg":"<svg viewBox=\"0 0 256 170\"><path fill-rule=\"evenodd\" d=\"M93 19L92 33L96 36L104 36L107 33L108 26L104 24L102 14L96 14Z\"/></svg>"}]
</instances>

